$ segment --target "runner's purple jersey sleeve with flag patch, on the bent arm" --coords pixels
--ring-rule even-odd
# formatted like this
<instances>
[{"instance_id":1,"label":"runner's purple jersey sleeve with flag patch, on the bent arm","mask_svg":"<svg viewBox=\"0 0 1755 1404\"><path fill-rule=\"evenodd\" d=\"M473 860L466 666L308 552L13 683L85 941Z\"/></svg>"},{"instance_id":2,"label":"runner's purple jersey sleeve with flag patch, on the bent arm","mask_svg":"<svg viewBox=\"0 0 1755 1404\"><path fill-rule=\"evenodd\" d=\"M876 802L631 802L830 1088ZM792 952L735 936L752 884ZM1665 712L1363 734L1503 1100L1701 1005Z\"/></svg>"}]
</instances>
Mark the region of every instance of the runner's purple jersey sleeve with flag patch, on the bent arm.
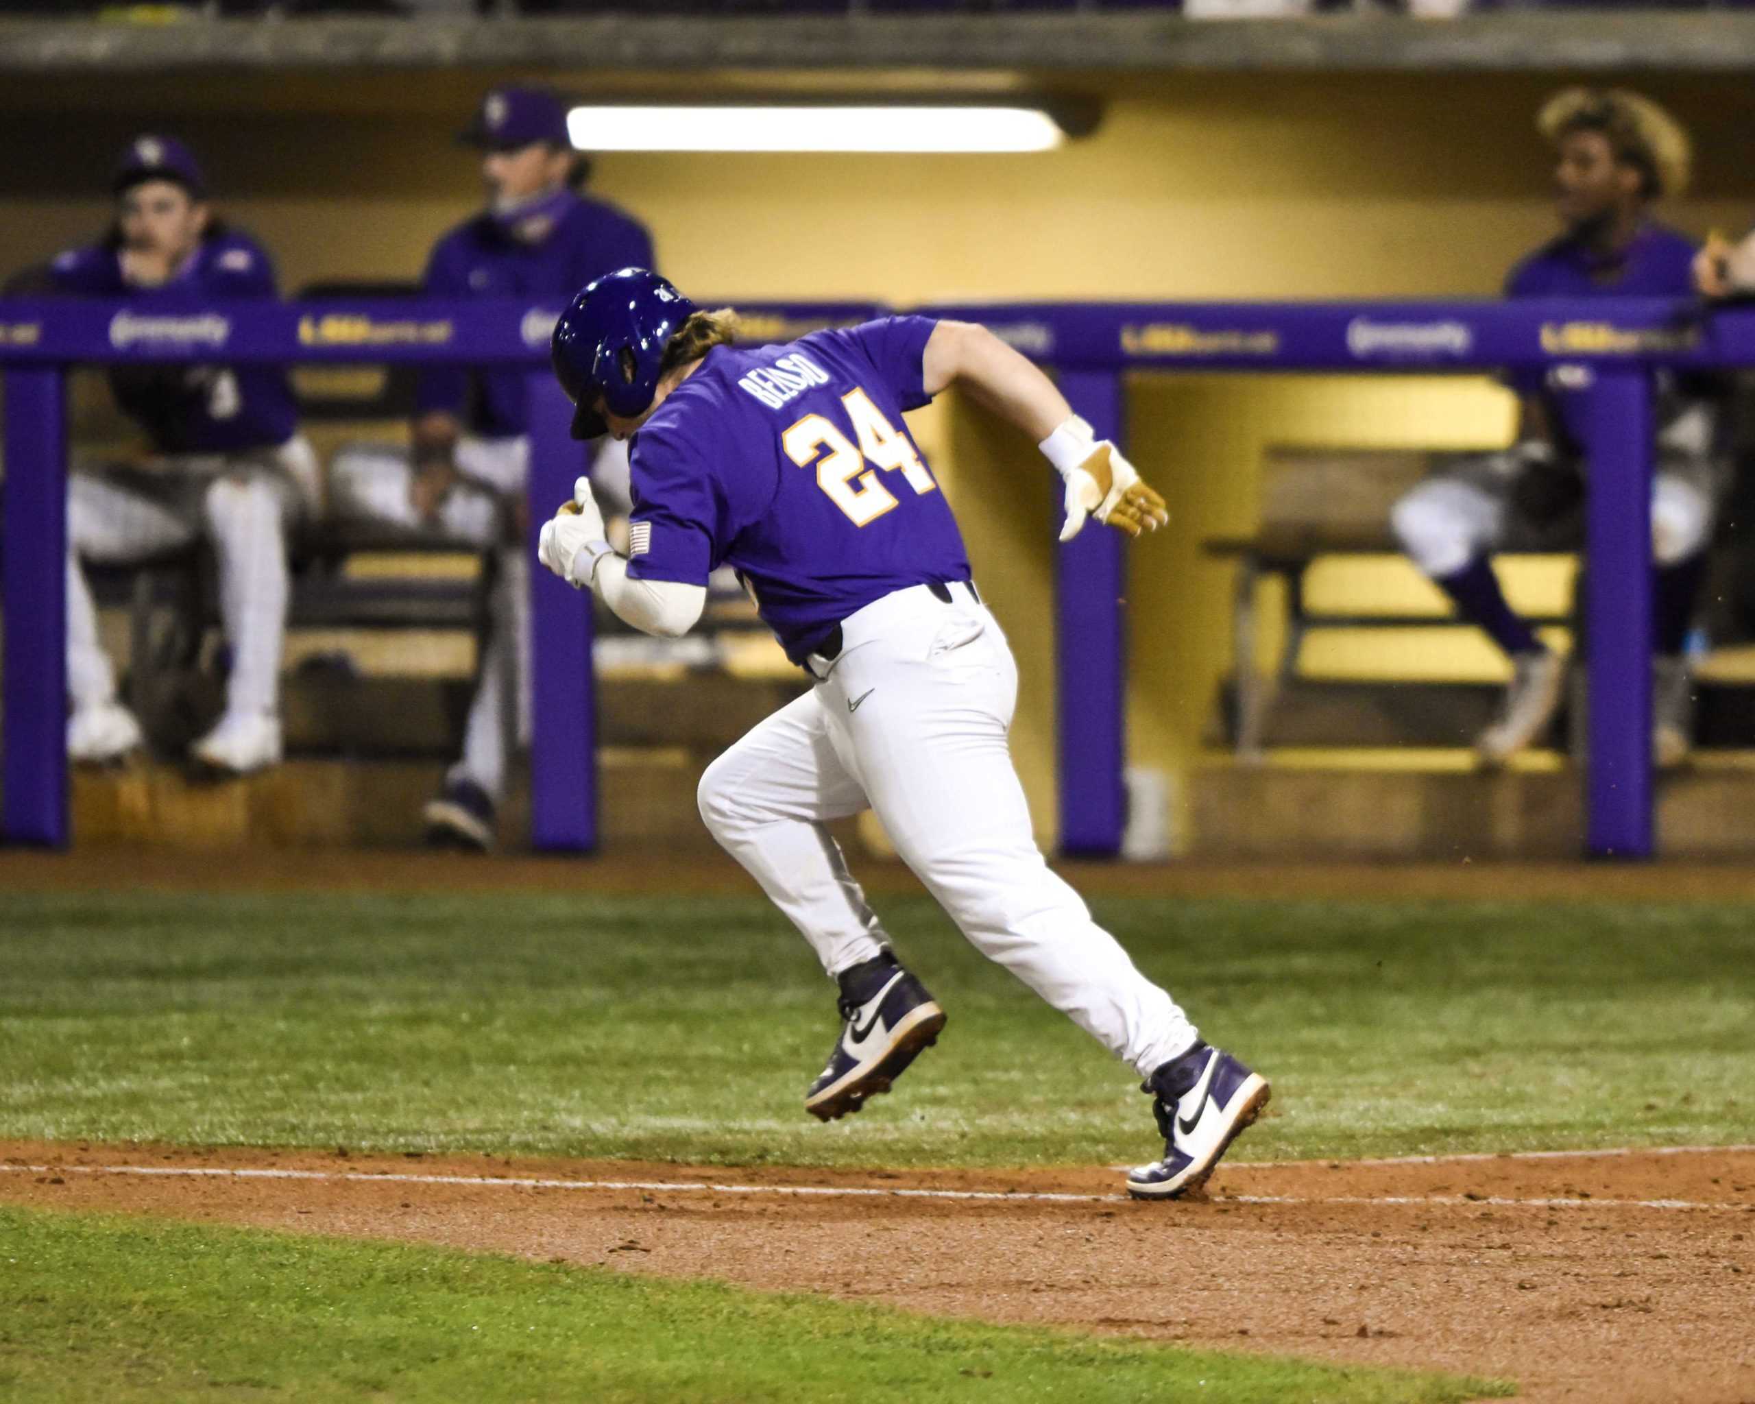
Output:
<instances>
[{"instance_id":1,"label":"runner's purple jersey sleeve with flag patch, on the bent arm","mask_svg":"<svg viewBox=\"0 0 1755 1404\"><path fill-rule=\"evenodd\" d=\"M700 455L669 428L642 428L628 456L628 576L706 584L723 556L725 504Z\"/></svg>"}]
</instances>

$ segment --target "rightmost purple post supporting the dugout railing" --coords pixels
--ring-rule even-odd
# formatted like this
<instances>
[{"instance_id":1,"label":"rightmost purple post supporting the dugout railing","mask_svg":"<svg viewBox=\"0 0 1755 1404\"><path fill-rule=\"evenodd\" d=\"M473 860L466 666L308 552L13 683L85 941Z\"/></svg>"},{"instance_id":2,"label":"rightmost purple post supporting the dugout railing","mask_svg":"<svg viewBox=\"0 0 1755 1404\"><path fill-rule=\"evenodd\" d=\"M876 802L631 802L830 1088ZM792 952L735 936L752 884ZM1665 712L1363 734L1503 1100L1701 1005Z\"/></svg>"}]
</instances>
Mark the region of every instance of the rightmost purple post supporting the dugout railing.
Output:
<instances>
[{"instance_id":1,"label":"rightmost purple post supporting the dugout railing","mask_svg":"<svg viewBox=\"0 0 1755 1404\"><path fill-rule=\"evenodd\" d=\"M1651 372L1590 390L1590 777L1585 851L1651 856Z\"/></svg>"}]
</instances>

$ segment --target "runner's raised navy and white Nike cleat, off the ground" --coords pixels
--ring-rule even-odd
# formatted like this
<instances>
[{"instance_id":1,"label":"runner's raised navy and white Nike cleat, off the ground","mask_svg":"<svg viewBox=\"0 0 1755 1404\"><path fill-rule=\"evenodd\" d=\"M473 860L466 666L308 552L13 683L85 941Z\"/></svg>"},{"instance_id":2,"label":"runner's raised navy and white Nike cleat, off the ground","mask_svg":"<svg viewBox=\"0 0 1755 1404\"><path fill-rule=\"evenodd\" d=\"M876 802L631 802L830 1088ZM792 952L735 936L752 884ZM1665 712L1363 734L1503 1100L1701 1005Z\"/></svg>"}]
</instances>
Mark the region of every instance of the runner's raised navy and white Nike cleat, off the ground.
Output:
<instances>
[{"instance_id":1,"label":"runner's raised navy and white Nike cleat, off the ground","mask_svg":"<svg viewBox=\"0 0 1755 1404\"><path fill-rule=\"evenodd\" d=\"M888 1092L944 1028L944 1011L888 951L848 971L841 988L841 1037L828 1067L804 1093L804 1109L823 1121L858 1111L867 1097ZM870 997L860 999L865 990L872 990Z\"/></svg>"}]
</instances>

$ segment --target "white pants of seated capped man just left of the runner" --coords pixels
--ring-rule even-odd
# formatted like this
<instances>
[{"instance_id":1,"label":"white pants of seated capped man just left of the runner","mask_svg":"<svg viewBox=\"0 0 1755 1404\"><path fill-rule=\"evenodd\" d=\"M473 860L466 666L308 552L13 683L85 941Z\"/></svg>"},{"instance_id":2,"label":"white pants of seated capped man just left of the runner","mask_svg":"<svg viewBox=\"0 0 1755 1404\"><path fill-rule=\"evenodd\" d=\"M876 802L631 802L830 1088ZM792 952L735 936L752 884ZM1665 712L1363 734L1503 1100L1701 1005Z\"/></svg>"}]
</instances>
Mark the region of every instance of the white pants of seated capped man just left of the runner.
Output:
<instances>
[{"instance_id":1,"label":"white pants of seated capped man just left of the runner","mask_svg":"<svg viewBox=\"0 0 1755 1404\"><path fill-rule=\"evenodd\" d=\"M441 502L435 523L414 511L409 500L414 467L409 451L395 444L340 449L330 463L330 505L347 521L495 551L488 644L463 728L463 755L448 779L479 784L498 804L505 797L512 735L505 718L509 681L518 695L516 744L530 744L530 562L523 542L509 535L518 519L516 504L530 481L530 441L465 437L458 441L455 462L463 484ZM604 483L609 502L625 502L627 444L605 439L591 476Z\"/></svg>"}]
</instances>

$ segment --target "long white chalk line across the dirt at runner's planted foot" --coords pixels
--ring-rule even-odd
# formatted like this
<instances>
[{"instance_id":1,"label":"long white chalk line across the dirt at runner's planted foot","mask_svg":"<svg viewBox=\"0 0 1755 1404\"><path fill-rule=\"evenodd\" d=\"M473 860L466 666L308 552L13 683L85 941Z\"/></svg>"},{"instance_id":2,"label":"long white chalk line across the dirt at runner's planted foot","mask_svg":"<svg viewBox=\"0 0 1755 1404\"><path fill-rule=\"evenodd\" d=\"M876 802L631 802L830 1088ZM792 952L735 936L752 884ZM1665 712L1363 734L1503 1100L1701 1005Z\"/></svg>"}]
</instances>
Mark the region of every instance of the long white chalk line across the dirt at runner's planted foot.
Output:
<instances>
[{"instance_id":1,"label":"long white chalk line across the dirt at runner's planted foot","mask_svg":"<svg viewBox=\"0 0 1755 1404\"><path fill-rule=\"evenodd\" d=\"M704 1185L665 1179L535 1179L500 1174L407 1174L369 1171L221 1169L212 1165L0 1165L12 1174L121 1174L172 1179L309 1179L356 1185L462 1185L505 1190L649 1190L655 1193L790 1195L820 1199L951 1199L1035 1204L1127 1204L1127 1195L1048 1193L1035 1190L892 1190L863 1185ZM1755 1213L1755 1204L1692 1199L1509 1199L1504 1195L1213 1195L1220 1204L1386 1204L1485 1206L1506 1209L1694 1209Z\"/></svg>"}]
</instances>

